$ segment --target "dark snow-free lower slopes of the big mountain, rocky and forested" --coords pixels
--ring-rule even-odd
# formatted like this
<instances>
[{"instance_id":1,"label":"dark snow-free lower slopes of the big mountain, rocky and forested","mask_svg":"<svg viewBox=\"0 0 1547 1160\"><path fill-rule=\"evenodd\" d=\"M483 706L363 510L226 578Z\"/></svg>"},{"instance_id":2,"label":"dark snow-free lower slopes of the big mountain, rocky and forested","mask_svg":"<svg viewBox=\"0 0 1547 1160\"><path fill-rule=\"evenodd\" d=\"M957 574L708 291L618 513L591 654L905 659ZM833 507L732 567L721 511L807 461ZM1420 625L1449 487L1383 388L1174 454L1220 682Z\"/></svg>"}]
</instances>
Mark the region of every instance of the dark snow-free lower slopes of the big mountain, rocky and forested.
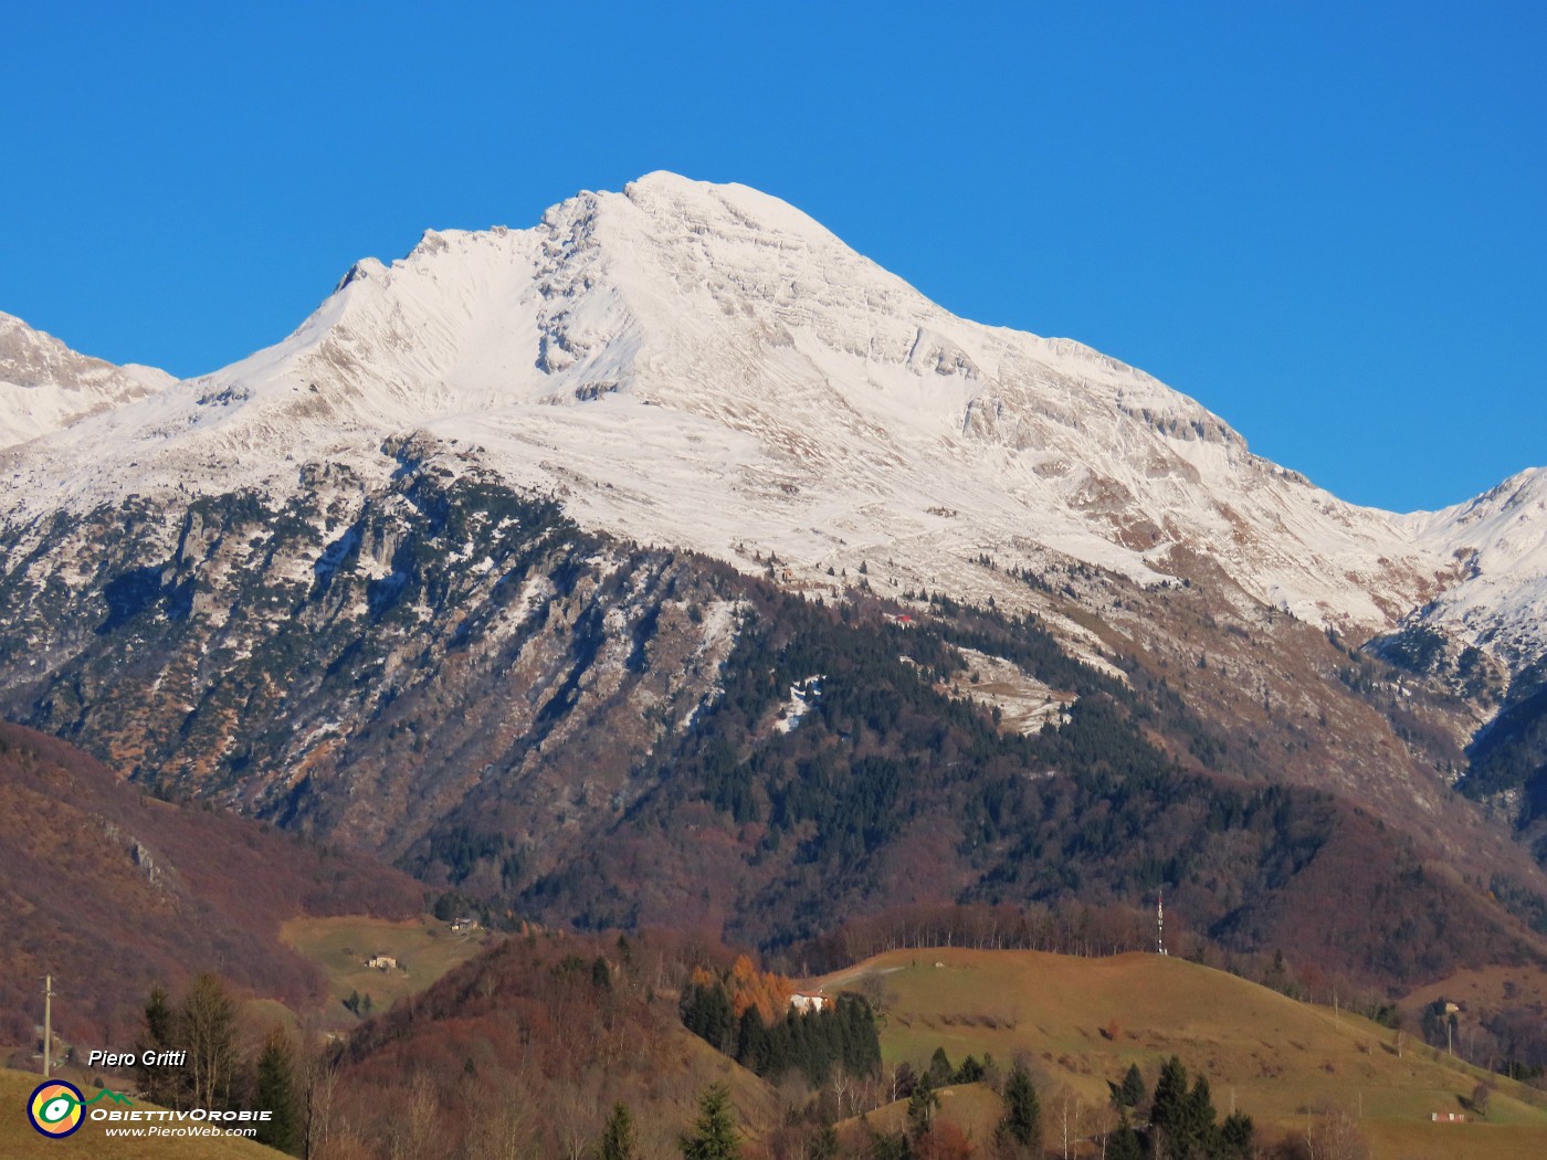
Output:
<instances>
[{"instance_id":1,"label":"dark snow-free lower slopes of the big mountain, rocky and forested","mask_svg":"<svg viewBox=\"0 0 1547 1160\"><path fill-rule=\"evenodd\" d=\"M1094 668L1041 620L936 600L905 628L863 588L823 608L394 453L382 490L305 466L277 510L189 501L166 554L166 509L54 520L0 577L0 707L549 925L775 945L899 905L1163 885L1224 945L1304 942L1371 982L1547 957L1479 886L1528 900L1539 872L1400 741L1414 710L1323 676L1349 664L1324 633L1120 577L1018 582L1047 623L1109 606L1092 639L1122 667ZM1166 673L1204 673L1199 647L1183 702ZM976 704L968 653L1057 698L1055 727ZM1380 920L1340 926L1329 882Z\"/></svg>"}]
</instances>

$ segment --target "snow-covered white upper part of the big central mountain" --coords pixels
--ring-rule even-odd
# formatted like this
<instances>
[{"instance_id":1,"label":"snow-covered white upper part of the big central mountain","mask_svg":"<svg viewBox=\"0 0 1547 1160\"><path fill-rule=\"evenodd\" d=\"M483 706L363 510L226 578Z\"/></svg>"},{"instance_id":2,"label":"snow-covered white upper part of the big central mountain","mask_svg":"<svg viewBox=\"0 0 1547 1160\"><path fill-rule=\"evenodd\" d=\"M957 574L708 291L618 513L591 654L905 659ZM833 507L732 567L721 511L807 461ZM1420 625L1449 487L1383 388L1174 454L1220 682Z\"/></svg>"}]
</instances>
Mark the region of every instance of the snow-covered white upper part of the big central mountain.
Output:
<instances>
[{"instance_id":1,"label":"snow-covered white upper part of the big central mountain","mask_svg":"<svg viewBox=\"0 0 1547 1160\"><path fill-rule=\"evenodd\" d=\"M1544 643L1539 472L1434 515L1343 503L1143 371L958 319L783 201L670 173L526 230L427 232L278 345L40 430L12 518L283 493L305 459L385 478L413 435L583 524L811 585L880 565L1002 599L982 558L1202 566L1363 636L1428 617L1513 665Z\"/></svg>"}]
</instances>

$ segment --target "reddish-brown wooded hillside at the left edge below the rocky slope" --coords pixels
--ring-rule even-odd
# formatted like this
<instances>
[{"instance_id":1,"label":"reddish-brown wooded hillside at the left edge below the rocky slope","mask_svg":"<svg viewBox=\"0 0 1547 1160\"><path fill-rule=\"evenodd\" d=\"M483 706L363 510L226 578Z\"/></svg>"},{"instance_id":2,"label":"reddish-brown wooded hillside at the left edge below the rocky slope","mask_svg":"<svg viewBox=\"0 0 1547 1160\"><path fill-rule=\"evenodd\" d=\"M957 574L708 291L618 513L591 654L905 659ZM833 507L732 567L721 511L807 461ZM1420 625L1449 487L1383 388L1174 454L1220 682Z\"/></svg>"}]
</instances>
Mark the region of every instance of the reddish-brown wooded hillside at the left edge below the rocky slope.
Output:
<instances>
[{"instance_id":1,"label":"reddish-brown wooded hillside at the left edge below the rocky slope","mask_svg":"<svg viewBox=\"0 0 1547 1160\"><path fill-rule=\"evenodd\" d=\"M218 970L289 1002L317 971L280 943L299 914L419 909L418 886L248 818L158 801L79 750L0 722L0 1039L28 1042L53 973L54 1029L133 1042L153 985Z\"/></svg>"}]
</instances>

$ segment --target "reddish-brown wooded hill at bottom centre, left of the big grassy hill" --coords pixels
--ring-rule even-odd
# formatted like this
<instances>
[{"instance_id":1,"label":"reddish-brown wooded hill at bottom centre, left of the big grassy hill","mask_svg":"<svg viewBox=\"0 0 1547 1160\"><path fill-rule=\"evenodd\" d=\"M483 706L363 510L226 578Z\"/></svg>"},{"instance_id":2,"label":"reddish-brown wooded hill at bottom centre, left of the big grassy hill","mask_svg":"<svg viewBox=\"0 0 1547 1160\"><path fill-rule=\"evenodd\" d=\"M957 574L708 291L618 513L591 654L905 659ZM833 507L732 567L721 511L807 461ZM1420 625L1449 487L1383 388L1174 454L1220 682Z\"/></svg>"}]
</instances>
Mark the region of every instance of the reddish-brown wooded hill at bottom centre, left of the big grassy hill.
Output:
<instances>
[{"instance_id":1,"label":"reddish-brown wooded hill at bottom centre, left of the big grassy hill","mask_svg":"<svg viewBox=\"0 0 1547 1160\"><path fill-rule=\"evenodd\" d=\"M579 1157L617 1101L636 1111L645 1154L664 1155L716 1081L743 1123L772 1128L775 1090L678 1019L676 988L705 950L653 933L503 942L350 1038L323 1155L484 1160L518 1141L521 1157Z\"/></svg>"}]
</instances>

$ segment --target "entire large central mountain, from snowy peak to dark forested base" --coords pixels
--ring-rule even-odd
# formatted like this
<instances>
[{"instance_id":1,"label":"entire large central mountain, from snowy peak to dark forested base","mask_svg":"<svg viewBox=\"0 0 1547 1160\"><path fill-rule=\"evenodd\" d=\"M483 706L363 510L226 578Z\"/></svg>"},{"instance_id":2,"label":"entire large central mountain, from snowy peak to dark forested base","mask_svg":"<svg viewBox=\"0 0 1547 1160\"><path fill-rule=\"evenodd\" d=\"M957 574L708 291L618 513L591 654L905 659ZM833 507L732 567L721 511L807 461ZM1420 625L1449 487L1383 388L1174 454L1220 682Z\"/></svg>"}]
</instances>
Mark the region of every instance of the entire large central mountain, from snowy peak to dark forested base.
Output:
<instances>
[{"instance_id":1,"label":"entire large central mountain, from snowy peak to dark forested base","mask_svg":"<svg viewBox=\"0 0 1547 1160\"><path fill-rule=\"evenodd\" d=\"M1163 885L1385 984L1541 957L1547 879L1451 792L1539 653L1538 475L1343 504L753 190L425 235L0 478L0 710L520 914ZM1389 664L1431 619L1454 671ZM1391 923L1323 913L1351 866Z\"/></svg>"}]
</instances>

